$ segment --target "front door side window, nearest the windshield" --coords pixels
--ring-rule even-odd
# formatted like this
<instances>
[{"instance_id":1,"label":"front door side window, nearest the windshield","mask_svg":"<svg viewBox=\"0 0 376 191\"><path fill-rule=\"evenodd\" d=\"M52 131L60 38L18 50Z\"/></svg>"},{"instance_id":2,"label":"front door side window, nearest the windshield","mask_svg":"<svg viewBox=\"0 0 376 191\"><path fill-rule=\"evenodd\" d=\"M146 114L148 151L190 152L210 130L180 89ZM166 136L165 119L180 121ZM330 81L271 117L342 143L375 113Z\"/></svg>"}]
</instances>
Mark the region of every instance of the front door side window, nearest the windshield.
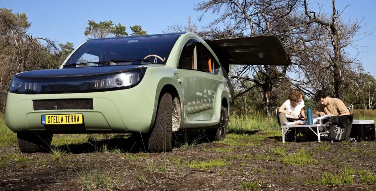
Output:
<instances>
[{"instance_id":1,"label":"front door side window, nearest the windshield","mask_svg":"<svg viewBox=\"0 0 376 191\"><path fill-rule=\"evenodd\" d=\"M185 44L179 59L180 69L198 70L197 50L199 50L198 41L190 40Z\"/></svg>"}]
</instances>

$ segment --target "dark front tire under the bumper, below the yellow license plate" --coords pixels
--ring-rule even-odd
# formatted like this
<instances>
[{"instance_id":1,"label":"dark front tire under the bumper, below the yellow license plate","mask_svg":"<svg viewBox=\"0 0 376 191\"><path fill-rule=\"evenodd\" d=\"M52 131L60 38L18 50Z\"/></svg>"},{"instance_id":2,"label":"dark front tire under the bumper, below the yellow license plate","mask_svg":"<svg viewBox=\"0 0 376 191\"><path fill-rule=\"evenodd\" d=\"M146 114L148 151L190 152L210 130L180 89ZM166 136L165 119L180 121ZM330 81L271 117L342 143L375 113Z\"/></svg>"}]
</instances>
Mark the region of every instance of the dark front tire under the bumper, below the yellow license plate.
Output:
<instances>
[{"instance_id":1,"label":"dark front tire under the bumper, below the yellow license plate","mask_svg":"<svg viewBox=\"0 0 376 191\"><path fill-rule=\"evenodd\" d=\"M52 133L17 133L18 147L21 153L37 153L50 150Z\"/></svg>"}]
</instances>

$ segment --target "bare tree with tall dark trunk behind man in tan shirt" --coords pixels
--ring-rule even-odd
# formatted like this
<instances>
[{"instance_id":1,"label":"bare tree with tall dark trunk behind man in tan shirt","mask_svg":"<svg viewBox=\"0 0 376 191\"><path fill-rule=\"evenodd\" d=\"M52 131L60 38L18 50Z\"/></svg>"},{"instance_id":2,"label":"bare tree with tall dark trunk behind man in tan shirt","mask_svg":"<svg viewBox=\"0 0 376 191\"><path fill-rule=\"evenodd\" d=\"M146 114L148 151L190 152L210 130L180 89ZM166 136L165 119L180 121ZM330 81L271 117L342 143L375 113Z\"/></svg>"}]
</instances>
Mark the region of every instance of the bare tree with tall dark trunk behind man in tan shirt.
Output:
<instances>
[{"instance_id":1,"label":"bare tree with tall dark trunk behind man in tan shirt","mask_svg":"<svg viewBox=\"0 0 376 191\"><path fill-rule=\"evenodd\" d=\"M341 14L344 11L344 8L341 12L336 9L335 0L332 0L332 13L330 15L321 14L319 12L309 11L307 8L307 2L304 0L304 13L305 18L308 20L302 22L299 26L291 26L287 30L293 30L297 27L306 26L312 23L317 23L326 31L326 33L321 34L323 39L321 41L326 41L323 45L327 47L322 47L320 50L320 55L323 59L321 64L310 64L308 59L303 59L302 63L305 65L305 76L317 76L321 77L321 80L317 78L316 87L323 87L327 84L333 86L333 92L335 97L342 99L344 98L344 84L348 80L351 80L354 75L363 72L361 63L358 61L357 53L355 57L352 57L347 51L347 47L354 47L359 50L358 47L354 44L356 41L365 38L365 36L370 35L373 32L370 32L372 29L365 32L361 32L364 27L361 26L362 20L359 22L355 20L354 22L345 23L341 18ZM360 39L355 39L358 35L364 35ZM318 69L320 68L320 74L317 74ZM316 70L316 71L315 71ZM323 75L324 74L324 75ZM308 79L309 80L309 79ZM351 84L351 83L349 83Z\"/></svg>"}]
</instances>

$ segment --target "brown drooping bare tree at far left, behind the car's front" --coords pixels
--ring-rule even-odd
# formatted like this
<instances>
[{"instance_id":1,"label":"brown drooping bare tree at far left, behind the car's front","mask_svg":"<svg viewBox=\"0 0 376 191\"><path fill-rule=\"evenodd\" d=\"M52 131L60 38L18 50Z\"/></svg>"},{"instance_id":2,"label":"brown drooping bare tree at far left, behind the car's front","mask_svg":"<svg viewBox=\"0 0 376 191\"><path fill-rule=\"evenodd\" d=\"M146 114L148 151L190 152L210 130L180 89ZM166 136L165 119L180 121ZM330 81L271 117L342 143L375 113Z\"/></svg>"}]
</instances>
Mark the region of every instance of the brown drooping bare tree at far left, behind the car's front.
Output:
<instances>
[{"instance_id":1,"label":"brown drooping bare tree at far left, behind the car's front","mask_svg":"<svg viewBox=\"0 0 376 191\"><path fill-rule=\"evenodd\" d=\"M28 35L29 27L25 14L0 9L0 112L5 108L6 94L15 73L56 68L59 64L54 62L59 52L55 42Z\"/></svg>"}]
</instances>

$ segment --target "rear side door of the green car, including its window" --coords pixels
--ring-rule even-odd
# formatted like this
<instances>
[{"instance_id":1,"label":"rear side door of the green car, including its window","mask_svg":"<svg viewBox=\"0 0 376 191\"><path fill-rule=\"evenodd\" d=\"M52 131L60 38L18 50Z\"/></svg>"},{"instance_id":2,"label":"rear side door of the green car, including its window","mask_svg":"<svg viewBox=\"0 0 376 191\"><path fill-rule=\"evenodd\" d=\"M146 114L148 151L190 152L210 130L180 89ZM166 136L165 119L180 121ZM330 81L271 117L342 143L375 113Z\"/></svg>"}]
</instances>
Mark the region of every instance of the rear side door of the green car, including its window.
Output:
<instances>
[{"instance_id":1,"label":"rear side door of the green car, including its window","mask_svg":"<svg viewBox=\"0 0 376 191\"><path fill-rule=\"evenodd\" d=\"M220 78L216 75L218 73L219 64L212 53L200 43L200 70L202 72L203 80L203 105L202 105L202 120L214 120L214 98L217 91L218 80Z\"/></svg>"}]
</instances>

